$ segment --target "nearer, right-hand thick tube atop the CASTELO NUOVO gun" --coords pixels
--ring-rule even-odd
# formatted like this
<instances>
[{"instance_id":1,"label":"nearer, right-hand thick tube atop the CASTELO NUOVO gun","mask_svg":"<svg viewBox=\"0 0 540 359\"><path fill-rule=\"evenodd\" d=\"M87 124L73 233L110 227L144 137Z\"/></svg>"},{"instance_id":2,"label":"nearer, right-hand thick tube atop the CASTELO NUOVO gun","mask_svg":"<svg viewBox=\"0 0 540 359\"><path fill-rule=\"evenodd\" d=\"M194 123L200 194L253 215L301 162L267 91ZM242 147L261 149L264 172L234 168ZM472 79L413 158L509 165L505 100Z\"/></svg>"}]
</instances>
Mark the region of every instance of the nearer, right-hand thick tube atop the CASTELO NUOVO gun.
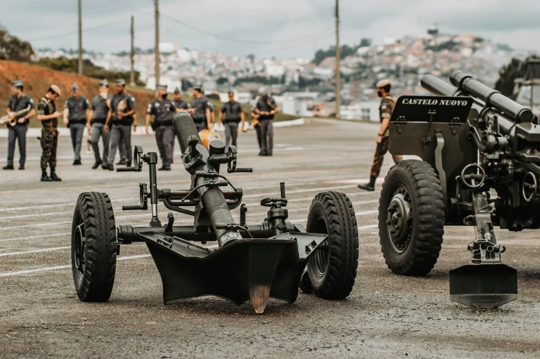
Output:
<instances>
[{"instance_id":1,"label":"nearer, right-hand thick tube atop the CASTELO NUOVO gun","mask_svg":"<svg viewBox=\"0 0 540 359\"><path fill-rule=\"evenodd\" d=\"M532 119L534 119L534 115L529 108L508 99L501 92L489 88L464 72L454 71L450 75L450 82L464 94L470 94L470 96L481 99L481 101L503 112L517 123L532 122Z\"/></svg>"}]
</instances>

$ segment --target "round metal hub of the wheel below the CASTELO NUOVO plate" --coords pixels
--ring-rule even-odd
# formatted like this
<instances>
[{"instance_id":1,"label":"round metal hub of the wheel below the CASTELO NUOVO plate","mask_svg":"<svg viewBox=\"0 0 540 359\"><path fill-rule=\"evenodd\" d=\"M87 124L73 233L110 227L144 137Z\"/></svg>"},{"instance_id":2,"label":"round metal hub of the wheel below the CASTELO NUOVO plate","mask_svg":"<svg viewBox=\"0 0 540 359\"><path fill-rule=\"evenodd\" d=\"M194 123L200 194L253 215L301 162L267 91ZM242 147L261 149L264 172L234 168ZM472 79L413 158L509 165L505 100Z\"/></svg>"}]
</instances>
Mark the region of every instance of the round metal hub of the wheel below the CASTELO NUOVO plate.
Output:
<instances>
[{"instance_id":1,"label":"round metal hub of the wheel below the CASTELO NUOVO plate","mask_svg":"<svg viewBox=\"0 0 540 359\"><path fill-rule=\"evenodd\" d=\"M403 253L411 242L413 228L413 207L411 195L404 185L397 185L388 205L386 229L388 240L397 253Z\"/></svg>"}]
</instances>

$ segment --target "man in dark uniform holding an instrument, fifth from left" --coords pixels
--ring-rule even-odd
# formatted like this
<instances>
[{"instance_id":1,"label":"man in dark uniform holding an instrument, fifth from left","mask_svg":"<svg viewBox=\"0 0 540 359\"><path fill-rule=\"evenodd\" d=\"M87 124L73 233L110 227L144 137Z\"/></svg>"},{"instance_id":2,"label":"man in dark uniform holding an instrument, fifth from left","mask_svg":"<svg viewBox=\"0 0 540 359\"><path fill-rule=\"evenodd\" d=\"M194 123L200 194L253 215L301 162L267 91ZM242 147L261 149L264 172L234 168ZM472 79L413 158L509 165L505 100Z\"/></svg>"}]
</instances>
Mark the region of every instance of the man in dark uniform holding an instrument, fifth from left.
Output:
<instances>
[{"instance_id":1,"label":"man in dark uniform holding an instrument, fifth from left","mask_svg":"<svg viewBox=\"0 0 540 359\"><path fill-rule=\"evenodd\" d=\"M112 123L110 130L110 148L109 158L107 158L107 167L114 170L114 156L120 140L123 139L126 150L126 165L132 165L132 124L135 114L135 98L125 92L125 81L116 81L116 94L112 96L111 106L103 130L109 132L109 123Z\"/></svg>"}]
</instances>

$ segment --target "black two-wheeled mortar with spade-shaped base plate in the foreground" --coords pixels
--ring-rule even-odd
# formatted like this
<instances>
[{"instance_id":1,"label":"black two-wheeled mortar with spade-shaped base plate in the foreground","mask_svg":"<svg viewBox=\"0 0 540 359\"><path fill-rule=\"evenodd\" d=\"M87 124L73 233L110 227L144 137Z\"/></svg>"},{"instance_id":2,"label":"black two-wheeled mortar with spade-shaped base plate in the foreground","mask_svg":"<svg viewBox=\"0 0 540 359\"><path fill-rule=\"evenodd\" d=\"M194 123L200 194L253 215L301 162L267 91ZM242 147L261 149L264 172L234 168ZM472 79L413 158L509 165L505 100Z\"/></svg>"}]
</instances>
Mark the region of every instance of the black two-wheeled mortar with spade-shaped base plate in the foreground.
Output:
<instances>
[{"instance_id":1,"label":"black two-wheeled mortar with spade-shaped base plate in the foreground","mask_svg":"<svg viewBox=\"0 0 540 359\"><path fill-rule=\"evenodd\" d=\"M191 175L186 190L159 188L157 154L134 148L134 167L117 172L141 172L149 167L149 185L140 183L140 203L123 210L147 210L148 226L118 225L109 196L85 192L79 196L72 224L72 269L76 292L83 301L107 301L112 293L116 256L122 245L145 242L163 282L164 302L196 296L219 296L237 305L249 300L262 313L269 297L294 302L298 287L321 298L349 296L358 265L358 232L349 198L338 192L315 196L307 227L287 220L285 185L280 197L264 198L269 207L262 223L248 224L242 189L220 174L251 172L237 167L236 147L212 141L201 144L193 119L178 112L173 120L182 162ZM223 189L229 187L229 189ZM158 216L158 203L172 212L194 217L193 225L174 225ZM193 209L187 209L191 207ZM232 209L240 207L240 220ZM207 247L216 242L217 249ZM306 269L307 270L304 270Z\"/></svg>"}]
</instances>

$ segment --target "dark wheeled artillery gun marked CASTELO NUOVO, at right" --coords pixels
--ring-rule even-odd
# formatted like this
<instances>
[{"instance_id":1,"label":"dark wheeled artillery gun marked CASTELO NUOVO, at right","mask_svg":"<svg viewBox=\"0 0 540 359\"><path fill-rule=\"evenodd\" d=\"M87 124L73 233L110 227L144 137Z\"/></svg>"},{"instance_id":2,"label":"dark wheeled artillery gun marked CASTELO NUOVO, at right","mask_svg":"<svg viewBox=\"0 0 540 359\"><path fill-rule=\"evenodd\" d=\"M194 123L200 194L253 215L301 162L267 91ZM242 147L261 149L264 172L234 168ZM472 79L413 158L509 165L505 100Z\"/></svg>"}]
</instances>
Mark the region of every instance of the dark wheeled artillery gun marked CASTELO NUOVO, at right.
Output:
<instances>
[{"instance_id":1,"label":"dark wheeled artillery gun marked CASTELO NUOVO, at right","mask_svg":"<svg viewBox=\"0 0 540 359\"><path fill-rule=\"evenodd\" d=\"M470 225L472 265L450 271L450 299L492 308L517 298L517 271L501 264L494 226L540 228L540 125L530 109L453 72L431 74L438 96L402 96L389 124L397 163L380 198L379 232L388 267L422 276L435 266L445 225Z\"/></svg>"}]
</instances>

